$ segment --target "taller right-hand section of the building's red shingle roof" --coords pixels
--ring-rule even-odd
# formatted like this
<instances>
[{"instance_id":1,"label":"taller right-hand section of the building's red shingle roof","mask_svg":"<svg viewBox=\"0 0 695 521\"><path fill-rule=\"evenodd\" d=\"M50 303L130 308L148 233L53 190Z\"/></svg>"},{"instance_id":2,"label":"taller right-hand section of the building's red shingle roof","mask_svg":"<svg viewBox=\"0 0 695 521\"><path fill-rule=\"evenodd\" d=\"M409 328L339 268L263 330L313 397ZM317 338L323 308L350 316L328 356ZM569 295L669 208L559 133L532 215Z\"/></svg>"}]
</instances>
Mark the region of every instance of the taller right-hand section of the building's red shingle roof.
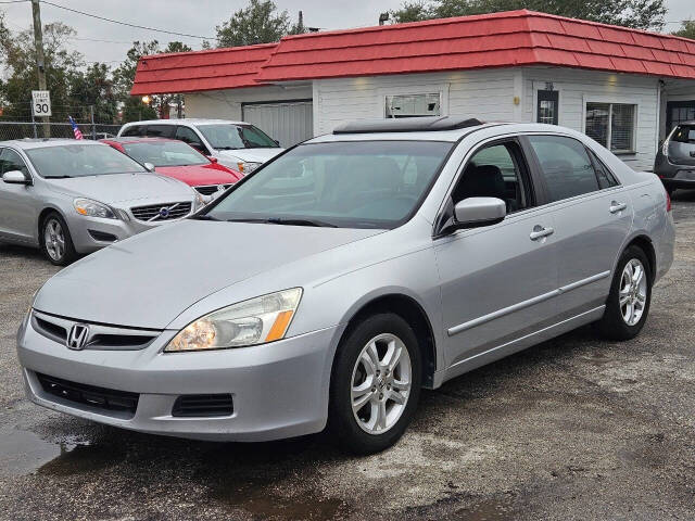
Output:
<instances>
[{"instance_id":1,"label":"taller right-hand section of the building's red shingle roof","mask_svg":"<svg viewBox=\"0 0 695 521\"><path fill-rule=\"evenodd\" d=\"M518 65L695 78L695 41L521 10L290 36L256 80Z\"/></svg>"}]
</instances>

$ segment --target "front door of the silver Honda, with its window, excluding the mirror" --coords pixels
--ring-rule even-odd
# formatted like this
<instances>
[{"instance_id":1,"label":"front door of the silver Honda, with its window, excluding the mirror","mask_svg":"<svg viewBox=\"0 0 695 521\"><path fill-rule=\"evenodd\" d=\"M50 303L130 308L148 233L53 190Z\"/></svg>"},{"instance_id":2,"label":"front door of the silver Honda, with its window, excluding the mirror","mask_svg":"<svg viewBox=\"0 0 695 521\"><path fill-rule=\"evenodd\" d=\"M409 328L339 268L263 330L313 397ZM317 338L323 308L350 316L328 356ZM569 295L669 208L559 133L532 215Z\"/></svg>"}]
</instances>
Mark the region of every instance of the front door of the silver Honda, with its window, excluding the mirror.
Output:
<instances>
[{"instance_id":1,"label":"front door of the silver Honda, with its window, excluding the mirror","mask_svg":"<svg viewBox=\"0 0 695 521\"><path fill-rule=\"evenodd\" d=\"M482 365L485 355L513 350L514 340L552 321L548 294L558 282L555 223L551 211L535 205L530 169L516 139L478 149L451 196L453 204L492 196L507 206L500 224L434 240L446 366Z\"/></svg>"}]
</instances>

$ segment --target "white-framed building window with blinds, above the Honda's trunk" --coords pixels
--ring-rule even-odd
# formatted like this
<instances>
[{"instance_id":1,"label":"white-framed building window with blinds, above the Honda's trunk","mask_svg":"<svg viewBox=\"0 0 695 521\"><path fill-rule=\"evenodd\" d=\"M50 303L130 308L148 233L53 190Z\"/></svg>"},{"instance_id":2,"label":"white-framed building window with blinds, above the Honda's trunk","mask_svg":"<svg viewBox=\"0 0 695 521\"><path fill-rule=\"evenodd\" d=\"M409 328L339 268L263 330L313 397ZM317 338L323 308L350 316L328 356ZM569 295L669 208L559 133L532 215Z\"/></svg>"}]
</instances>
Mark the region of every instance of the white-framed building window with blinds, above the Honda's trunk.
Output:
<instances>
[{"instance_id":1,"label":"white-framed building window with blinds, above the Honda's trunk","mask_svg":"<svg viewBox=\"0 0 695 521\"><path fill-rule=\"evenodd\" d=\"M637 105L586 103L586 136L611 152L634 152Z\"/></svg>"}]
</instances>

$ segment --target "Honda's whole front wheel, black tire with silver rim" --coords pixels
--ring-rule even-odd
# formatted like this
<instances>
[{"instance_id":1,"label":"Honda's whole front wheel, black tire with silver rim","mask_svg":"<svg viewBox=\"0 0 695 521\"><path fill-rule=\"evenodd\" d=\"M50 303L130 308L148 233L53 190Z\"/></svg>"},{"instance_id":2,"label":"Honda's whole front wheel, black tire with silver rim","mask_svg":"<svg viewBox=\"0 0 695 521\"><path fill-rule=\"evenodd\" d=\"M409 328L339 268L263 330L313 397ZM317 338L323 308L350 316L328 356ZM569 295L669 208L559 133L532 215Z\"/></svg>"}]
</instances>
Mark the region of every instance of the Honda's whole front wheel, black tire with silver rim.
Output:
<instances>
[{"instance_id":1,"label":"Honda's whole front wheel, black tire with silver rim","mask_svg":"<svg viewBox=\"0 0 695 521\"><path fill-rule=\"evenodd\" d=\"M393 360L390 354L399 348L401 356L389 371L388 363ZM328 410L331 434L354 454L383 450L403 435L417 408L421 383L417 336L397 315L369 317L341 341L331 377ZM357 397L353 398L353 392ZM353 410L353 399L364 401L364 406Z\"/></svg>"}]
</instances>

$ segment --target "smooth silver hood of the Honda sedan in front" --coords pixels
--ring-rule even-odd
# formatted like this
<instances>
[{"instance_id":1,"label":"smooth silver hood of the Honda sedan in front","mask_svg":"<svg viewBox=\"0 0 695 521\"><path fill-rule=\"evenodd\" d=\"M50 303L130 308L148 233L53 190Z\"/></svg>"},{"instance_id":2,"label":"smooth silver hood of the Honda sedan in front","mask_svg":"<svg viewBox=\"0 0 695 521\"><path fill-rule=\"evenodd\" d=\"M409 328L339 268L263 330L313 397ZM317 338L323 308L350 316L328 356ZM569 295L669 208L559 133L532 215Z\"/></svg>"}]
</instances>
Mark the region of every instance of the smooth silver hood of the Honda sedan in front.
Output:
<instances>
[{"instance_id":1,"label":"smooth silver hood of the Honda sedan in front","mask_svg":"<svg viewBox=\"0 0 695 521\"><path fill-rule=\"evenodd\" d=\"M187 219L63 269L34 307L88 322L165 329L216 291L381 231Z\"/></svg>"}]
</instances>

